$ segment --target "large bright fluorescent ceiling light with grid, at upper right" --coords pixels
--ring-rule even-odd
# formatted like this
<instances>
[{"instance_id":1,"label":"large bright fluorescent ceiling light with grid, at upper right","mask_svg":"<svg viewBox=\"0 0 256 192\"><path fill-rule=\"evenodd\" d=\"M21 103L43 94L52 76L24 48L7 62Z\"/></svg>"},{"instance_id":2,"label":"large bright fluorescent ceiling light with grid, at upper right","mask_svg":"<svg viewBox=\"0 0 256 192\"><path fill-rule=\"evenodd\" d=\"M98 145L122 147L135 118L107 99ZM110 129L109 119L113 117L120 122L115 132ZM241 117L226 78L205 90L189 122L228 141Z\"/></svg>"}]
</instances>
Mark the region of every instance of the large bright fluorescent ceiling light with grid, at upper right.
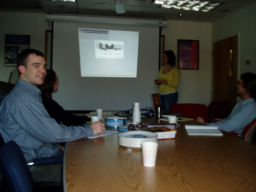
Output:
<instances>
[{"instance_id":1,"label":"large bright fluorescent ceiling light with grid, at upper right","mask_svg":"<svg viewBox=\"0 0 256 192\"><path fill-rule=\"evenodd\" d=\"M209 12L223 3L210 1L190 1L190 0L155 0L154 4L161 5L161 8L173 8L193 11Z\"/></svg>"}]
</instances>

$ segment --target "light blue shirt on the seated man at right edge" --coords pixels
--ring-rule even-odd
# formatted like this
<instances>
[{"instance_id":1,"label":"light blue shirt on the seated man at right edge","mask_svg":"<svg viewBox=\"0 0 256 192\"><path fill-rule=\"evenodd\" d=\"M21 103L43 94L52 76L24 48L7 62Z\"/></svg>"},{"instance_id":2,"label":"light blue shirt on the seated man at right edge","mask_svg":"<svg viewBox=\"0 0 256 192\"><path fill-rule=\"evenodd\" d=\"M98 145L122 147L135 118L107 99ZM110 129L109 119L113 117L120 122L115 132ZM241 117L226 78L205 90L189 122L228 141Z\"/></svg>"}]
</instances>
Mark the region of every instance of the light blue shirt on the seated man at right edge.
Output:
<instances>
[{"instance_id":1,"label":"light blue shirt on the seated man at right edge","mask_svg":"<svg viewBox=\"0 0 256 192\"><path fill-rule=\"evenodd\" d=\"M222 122L207 123L211 126L218 126L220 130L225 132L234 132L241 134L253 119L256 118L256 102L253 98L240 101L234 106L228 118Z\"/></svg>"}]
</instances>

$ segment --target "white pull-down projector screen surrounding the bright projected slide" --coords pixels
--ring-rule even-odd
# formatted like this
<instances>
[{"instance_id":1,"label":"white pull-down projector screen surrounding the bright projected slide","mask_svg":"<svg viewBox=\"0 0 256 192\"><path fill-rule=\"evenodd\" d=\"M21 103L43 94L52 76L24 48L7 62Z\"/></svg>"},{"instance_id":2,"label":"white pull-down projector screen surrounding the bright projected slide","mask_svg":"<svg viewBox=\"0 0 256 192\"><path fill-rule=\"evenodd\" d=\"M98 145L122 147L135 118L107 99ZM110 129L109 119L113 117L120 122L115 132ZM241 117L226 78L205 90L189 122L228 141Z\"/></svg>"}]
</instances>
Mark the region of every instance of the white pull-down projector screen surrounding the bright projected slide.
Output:
<instances>
[{"instance_id":1,"label":"white pull-down projector screen surrounding the bright projected slide","mask_svg":"<svg viewBox=\"0 0 256 192\"><path fill-rule=\"evenodd\" d=\"M81 77L78 28L139 32L136 78ZM59 78L53 94L65 110L127 110L152 106L158 91L159 27L54 22L52 66Z\"/></svg>"}]
</instances>

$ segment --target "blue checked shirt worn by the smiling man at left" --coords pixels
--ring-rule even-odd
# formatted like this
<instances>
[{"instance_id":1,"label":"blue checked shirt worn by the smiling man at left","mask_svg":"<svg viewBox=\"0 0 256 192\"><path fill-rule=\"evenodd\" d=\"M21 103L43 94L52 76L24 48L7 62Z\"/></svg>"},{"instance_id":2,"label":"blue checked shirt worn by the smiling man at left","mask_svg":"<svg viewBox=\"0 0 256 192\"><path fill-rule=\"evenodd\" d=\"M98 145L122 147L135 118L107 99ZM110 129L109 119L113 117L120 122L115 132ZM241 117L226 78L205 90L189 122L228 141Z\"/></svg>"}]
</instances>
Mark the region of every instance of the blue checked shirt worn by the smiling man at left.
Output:
<instances>
[{"instance_id":1,"label":"blue checked shirt worn by the smiling man at left","mask_svg":"<svg viewBox=\"0 0 256 192\"><path fill-rule=\"evenodd\" d=\"M41 91L21 79L0 105L0 132L20 146L27 162L62 154L59 142L94 135L90 126L58 124L42 105Z\"/></svg>"}]
</instances>

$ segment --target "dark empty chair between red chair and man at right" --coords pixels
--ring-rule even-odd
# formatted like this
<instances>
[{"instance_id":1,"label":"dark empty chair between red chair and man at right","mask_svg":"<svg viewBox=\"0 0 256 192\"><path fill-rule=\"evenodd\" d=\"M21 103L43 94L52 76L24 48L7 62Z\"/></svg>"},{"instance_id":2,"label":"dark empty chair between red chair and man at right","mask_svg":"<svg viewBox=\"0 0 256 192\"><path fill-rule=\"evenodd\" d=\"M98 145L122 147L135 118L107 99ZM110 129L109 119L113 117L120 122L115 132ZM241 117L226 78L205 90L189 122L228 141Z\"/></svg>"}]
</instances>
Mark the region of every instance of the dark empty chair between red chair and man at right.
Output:
<instances>
[{"instance_id":1,"label":"dark empty chair between red chair and man at right","mask_svg":"<svg viewBox=\"0 0 256 192\"><path fill-rule=\"evenodd\" d=\"M211 101L207 108L208 121L215 118L226 118L231 112L231 103L229 101Z\"/></svg>"}]
</instances>

